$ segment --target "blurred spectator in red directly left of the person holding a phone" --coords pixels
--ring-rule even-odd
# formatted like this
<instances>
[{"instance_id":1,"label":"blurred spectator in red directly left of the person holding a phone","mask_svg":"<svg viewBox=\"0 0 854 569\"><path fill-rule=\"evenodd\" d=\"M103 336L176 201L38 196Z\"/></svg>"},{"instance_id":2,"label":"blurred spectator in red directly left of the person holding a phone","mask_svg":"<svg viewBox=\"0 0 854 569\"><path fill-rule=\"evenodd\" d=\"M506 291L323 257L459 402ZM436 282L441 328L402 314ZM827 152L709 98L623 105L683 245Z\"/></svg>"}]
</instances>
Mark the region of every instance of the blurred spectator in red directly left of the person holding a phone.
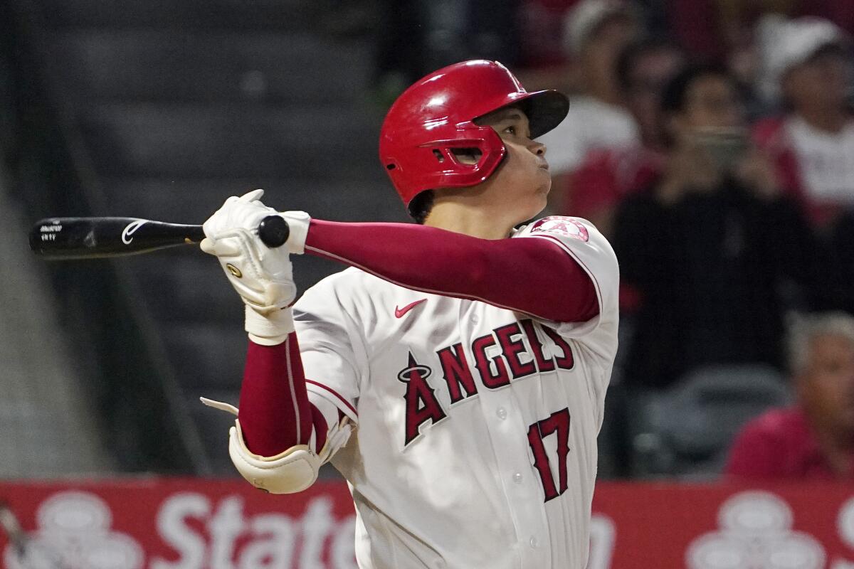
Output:
<instances>
[{"instance_id":1,"label":"blurred spectator in red directly left of the person holding a phone","mask_svg":"<svg viewBox=\"0 0 854 569\"><path fill-rule=\"evenodd\" d=\"M684 64L676 44L664 39L635 40L617 60L617 78L640 140L588 152L570 176L564 213L589 219L611 236L617 204L625 195L652 183L664 165L665 136L659 102L664 85Z\"/></svg>"}]
</instances>

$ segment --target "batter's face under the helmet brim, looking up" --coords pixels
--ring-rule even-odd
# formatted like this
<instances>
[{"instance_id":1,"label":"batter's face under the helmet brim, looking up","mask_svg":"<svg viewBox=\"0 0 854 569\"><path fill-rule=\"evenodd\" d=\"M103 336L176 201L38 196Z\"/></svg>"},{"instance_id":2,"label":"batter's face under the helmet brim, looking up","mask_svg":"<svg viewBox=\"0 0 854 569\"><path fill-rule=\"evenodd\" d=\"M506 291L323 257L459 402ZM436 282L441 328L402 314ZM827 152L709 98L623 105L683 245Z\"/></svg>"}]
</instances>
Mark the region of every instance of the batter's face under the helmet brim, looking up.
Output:
<instances>
[{"instance_id":1,"label":"batter's face under the helmet brim, looking up","mask_svg":"<svg viewBox=\"0 0 854 569\"><path fill-rule=\"evenodd\" d=\"M546 146L531 140L528 117L516 107L489 113L477 124L494 128L507 149L502 165L484 183L490 200L518 210L519 222L533 218L546 207L552 187Z\"/></svg>"}]
</instances>

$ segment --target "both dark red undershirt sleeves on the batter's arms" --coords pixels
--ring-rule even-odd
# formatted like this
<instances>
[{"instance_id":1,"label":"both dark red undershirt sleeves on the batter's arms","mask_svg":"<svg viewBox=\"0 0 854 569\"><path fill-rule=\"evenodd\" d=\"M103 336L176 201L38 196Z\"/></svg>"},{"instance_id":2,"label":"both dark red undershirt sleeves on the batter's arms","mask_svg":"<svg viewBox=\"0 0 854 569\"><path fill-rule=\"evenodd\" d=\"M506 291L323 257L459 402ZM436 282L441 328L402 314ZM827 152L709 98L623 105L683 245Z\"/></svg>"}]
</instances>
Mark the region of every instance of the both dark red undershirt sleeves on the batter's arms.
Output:
<instances>
[{"instance_id":1,"label":"both dark red undershirt sleeves on the batter's arms","mask_svg":"<svg viewBox=\"0 0 854 569\"><path fill-rule=\"evenodd\" d=\"M482 300L556 322L584 322L599 313L590 276L545 239L485 240L424 225L313 220L306 253L402 287ZM249 342L240 424L249 450L261 456L307 444L312 427L325 438L326 421L308 402L296 334L280 345Z\"/></svg>"}]
</instances>

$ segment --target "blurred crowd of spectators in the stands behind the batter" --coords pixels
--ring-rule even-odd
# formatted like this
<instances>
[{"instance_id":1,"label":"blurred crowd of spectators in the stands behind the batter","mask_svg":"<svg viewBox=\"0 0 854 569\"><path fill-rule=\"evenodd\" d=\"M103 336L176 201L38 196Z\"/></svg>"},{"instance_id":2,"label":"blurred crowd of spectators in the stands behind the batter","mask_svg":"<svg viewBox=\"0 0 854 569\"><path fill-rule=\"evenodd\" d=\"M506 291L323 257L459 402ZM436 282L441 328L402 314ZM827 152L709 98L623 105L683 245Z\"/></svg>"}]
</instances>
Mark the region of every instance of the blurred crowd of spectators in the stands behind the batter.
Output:
<instances>
[{"instance_id":1,"label":"blurred crowd of spectators in the stands behind the batter","mask_svg":"<svg viewBox=\"0 0 854 569\"><path fill-rule=\"evenodd\" d=\"M854 3L404 4L383 27L395 32L378 49L381 89L488 57L529 90L571 94L542 141L550 211L593 221L620 259L611 473L703 475L728 461L732 475L854 479ZM680 450L655 419L662 401L690 398L671 431L728 421L710 425L728 433L717 446L698 448L699 433ZM704 418L710 401L743 412ZM730 451L775 404L788 415L762 415ZM795 447L803 456L784 458Z\"/></svg>"}]
</instances>

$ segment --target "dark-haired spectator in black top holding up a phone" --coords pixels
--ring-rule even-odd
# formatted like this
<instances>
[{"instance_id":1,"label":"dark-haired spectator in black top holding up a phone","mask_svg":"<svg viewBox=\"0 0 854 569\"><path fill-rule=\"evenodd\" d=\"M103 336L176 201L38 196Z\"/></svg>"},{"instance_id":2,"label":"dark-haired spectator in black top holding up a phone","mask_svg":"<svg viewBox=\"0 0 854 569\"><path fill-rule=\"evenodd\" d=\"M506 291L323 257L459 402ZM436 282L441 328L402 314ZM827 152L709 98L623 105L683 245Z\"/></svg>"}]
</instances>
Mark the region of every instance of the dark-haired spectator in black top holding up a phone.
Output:
<instances>
[{"instance_id":1,"label":"dark-haired spectator in black top holding up a phone","mask_svg":"<svg viewBox=\"0 0 854 569\"><path fill-rule=\"evenodd\" d=\"M611 241L640 299L624 380L669 386L707 363L781 368L781 290L811 273L809 225L748 143L722 67L678 73L661 108L664 170L623 200Z\"/></svg>"}]
</instances>

